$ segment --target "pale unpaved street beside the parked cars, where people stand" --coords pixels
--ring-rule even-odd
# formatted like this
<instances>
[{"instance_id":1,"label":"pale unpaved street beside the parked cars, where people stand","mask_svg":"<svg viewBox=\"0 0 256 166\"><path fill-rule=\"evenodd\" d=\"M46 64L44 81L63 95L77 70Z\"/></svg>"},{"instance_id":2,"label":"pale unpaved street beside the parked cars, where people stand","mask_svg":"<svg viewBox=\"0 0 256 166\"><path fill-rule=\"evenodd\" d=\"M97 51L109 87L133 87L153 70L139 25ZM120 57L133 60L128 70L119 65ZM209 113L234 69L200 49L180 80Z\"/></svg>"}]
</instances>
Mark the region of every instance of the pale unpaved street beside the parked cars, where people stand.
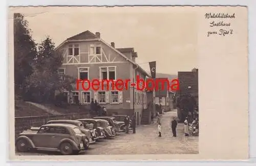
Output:
<instances>
[{"instance_id":1,"label":"pale unpaved street beside the parked cars, where people stand","mask_svg":"<svg viewBox=\"0 0 256 166\"><path fill-rule=\"evenodd\" d=\"M157 123L140 125L136 133L118 133L114 139L102 140L90 145L90 149L80 152L79 155L117 155L117 154L197 154L199 153L198 136L185 137L183 123L177 127L177 137L172 137L169 128L176 111L166 112L161 116L162 137L158 137ZM16 153L17 155L59 155L57 152L29 152Z\"/></svg>"}]
</instances>

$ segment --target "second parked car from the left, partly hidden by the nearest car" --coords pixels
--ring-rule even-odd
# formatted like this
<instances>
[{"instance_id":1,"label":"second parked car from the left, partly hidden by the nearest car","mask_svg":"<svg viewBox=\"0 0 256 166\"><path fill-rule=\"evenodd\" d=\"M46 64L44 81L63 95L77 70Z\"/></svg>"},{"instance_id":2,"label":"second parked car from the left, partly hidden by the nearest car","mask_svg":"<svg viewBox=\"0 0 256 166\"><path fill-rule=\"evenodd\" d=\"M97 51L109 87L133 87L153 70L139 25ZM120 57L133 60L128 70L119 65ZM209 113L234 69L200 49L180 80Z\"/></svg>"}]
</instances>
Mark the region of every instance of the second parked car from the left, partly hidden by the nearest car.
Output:
<instances>
[{"instance_id":1,"label":"second parked car from the left, partly hidden by the nearest car","mask_svg":"<svg viewBox=\"0 0 256 166\"><path fill-rule=\"evenodd\" d=\"M89 141L89 144L95 143L97 137L95 136L95 131L92 129L90 130L90 126L84 126L82 124L82 122L80 121L75 121L75 120L51 120L48 121L46 124L51 124L51 123L65 123L65 124L73 124L77 127L80 128L80 130L82 131L82 133L84 133L86 135L86 139ZM89 148L89 145L85 147L86 149Z\"/></svg>"}]
</instances>

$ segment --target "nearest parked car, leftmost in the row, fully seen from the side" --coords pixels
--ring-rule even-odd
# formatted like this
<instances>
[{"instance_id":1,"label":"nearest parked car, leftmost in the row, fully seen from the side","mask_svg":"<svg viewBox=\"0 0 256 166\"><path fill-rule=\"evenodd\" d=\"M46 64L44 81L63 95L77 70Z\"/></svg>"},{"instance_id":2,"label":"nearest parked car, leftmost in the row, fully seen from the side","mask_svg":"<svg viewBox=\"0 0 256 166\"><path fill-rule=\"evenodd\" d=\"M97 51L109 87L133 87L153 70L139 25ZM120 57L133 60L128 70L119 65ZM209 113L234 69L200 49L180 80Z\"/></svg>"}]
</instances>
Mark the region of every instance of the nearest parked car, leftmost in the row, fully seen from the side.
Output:
<instances>
[{"instance_id":1,"label":"nearest parked car, leftmost in the row, fully seen from the side","mask_svg":"<svg viewBox=\"0 0 256 166\"><path fill-rule=\"evenodd\" d=\"M86 135L77 126L58 123L42 125L37 131L25 130L15 141L19 152L37 149L58 151L63 155L78 154L87 144Z\"/></svg>"}]
</instances>

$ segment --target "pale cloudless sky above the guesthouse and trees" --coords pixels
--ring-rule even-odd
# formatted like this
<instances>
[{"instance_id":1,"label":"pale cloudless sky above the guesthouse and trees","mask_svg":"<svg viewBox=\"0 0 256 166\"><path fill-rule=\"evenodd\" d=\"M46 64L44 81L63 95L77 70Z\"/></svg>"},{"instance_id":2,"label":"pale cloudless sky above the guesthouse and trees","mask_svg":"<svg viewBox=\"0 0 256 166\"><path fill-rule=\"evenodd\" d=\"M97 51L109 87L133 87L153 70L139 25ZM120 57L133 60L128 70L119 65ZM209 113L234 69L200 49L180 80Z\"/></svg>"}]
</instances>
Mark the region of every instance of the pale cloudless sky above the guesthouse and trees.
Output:
<instances>
[{"instance_id":1,"label":"pale cloudless sky above the guesthouse and trees","mask_svg":"<svg viewBox=\"0 0 256 166\"><path fill-rule=\"evenodd\" d=\"M151 61L156 61L157 73L177 74L197 67L195 13L87 9L45 7L21 11L36 42L49 35L58 46L67 38L89 30L100 32L101 38L115 42L116 48L134 47L138 53L136 62L146 71Z\"/></svg>"}]
</instances>

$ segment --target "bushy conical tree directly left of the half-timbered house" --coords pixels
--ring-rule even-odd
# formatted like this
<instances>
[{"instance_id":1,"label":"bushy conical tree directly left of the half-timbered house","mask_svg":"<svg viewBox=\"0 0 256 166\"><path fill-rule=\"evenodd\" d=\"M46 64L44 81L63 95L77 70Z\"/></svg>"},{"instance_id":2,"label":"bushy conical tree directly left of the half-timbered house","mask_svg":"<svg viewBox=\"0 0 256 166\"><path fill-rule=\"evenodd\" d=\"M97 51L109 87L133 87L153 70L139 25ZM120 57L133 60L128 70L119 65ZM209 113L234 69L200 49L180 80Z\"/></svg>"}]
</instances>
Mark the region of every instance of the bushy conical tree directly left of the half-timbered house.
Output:
<instances>
[{"instance_id":1,"label":"bushy conical tree directly left of the half-timbered house","mask_svg":"<svg viewBox=\"0 0 256 166\"><path fill-rule=\"evenodd\" d=\"M38 54L33 65L34 72L26 80L27 100L53 102L56 91L73 89L75 79L58 73L63 56L54 48L55 44L49 36L38 45Z\"/></svg>"}]
</instances>

